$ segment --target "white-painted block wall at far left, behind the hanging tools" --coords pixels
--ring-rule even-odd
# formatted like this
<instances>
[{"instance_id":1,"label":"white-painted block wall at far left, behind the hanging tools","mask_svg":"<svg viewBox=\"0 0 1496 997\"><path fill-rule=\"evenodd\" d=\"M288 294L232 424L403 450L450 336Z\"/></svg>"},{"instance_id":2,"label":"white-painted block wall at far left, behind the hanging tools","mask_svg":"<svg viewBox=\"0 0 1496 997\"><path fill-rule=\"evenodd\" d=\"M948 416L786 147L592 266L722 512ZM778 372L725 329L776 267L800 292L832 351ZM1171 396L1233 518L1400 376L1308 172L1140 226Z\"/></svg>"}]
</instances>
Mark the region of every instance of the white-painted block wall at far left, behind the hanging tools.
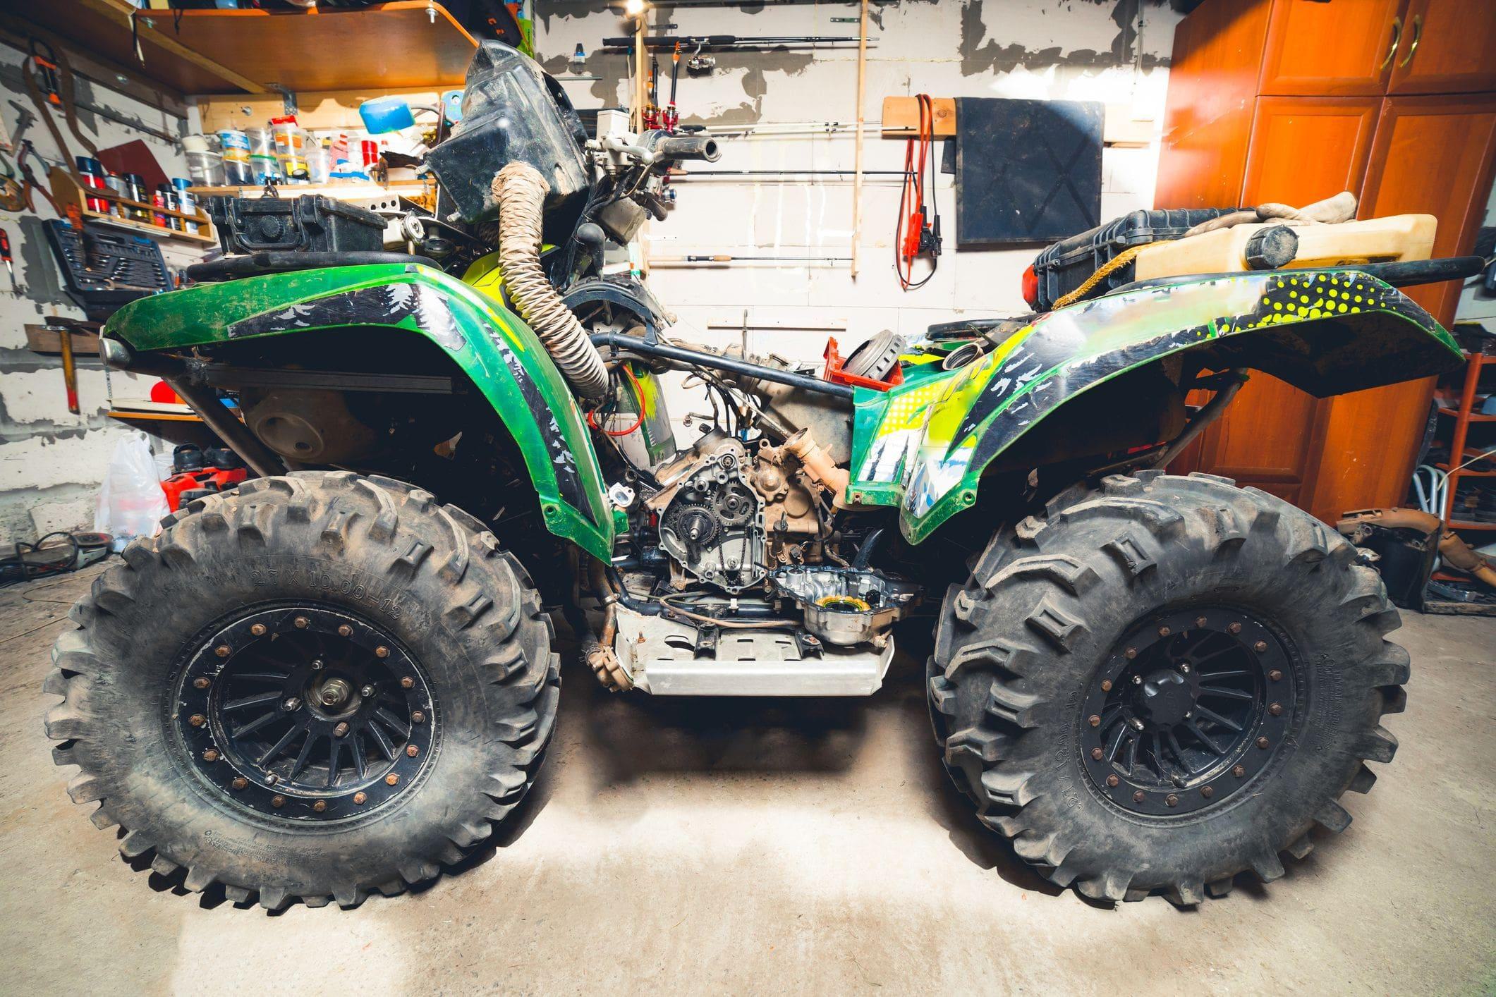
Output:
<instances>
[{"instance_id":1,"label":"white-painted block wall at far left, behind the hanging tools","mask_svg":"<svg viewBox=\"0 0 1496 997\"><path fill-rule=\"evenodd\" d=\"M6 99L0 102L0 118L7 135L13 133L18 117L9 100L30 106L21 84L21 52L0 46L0 91ZM78 79L78 99L139 120L147 127L178 130L178 120L87 79ZM168 175L186 175L186 163L174 146L87 111L81 111L78 120L94 145L108 148L144 139ZM57 121L69 145L76 146L61 117ZM43 157L60 160L45 123L33 124L25 138ZM85 152L72 151L75 155ZM31 169L45 181L42 164L33 161ZM55 214L40 194L34 200L36 212L0 211L0 226L10 235L15 251L16 280L25 287L24 296L10 294L9 277L0 274L0 549L54 529L91 529L94 498L109 454L130 432L103 414L108 399L97 359L78 360L82 411L73 416L63 395L61 360L27 350L27 323L40 323L45 315L82 318L82 311L61 291L61 274L42 233L40 220ZM166 262L184 266L196 256L172 251ZM114 374L112 384L117 396L144 398L150 390L150 380L124 374Z\"/></svg>"}]
</instances>

